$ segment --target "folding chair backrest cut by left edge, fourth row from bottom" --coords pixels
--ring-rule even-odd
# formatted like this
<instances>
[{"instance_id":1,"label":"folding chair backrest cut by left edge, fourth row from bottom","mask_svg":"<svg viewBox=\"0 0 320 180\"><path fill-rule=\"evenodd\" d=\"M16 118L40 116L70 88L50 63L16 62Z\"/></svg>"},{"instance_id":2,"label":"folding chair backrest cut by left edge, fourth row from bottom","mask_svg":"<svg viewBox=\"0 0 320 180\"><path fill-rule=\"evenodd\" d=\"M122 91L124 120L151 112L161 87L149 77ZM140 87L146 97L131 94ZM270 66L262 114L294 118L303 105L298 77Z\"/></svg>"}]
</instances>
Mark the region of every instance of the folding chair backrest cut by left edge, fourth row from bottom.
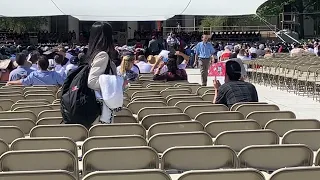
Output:
<instances>
[{"instance_id":1,"label":"folding chair backrest cut by left edge, fourth row from bottom","mask_svg":"<svg viewBox=\"0 0 320 180\"><path fill-rule=\"evenodd\" d=\"M24 137L24 133L16 126L0 126L0 139L11 144L15 139Z\"/></svg>"}]
</instances>

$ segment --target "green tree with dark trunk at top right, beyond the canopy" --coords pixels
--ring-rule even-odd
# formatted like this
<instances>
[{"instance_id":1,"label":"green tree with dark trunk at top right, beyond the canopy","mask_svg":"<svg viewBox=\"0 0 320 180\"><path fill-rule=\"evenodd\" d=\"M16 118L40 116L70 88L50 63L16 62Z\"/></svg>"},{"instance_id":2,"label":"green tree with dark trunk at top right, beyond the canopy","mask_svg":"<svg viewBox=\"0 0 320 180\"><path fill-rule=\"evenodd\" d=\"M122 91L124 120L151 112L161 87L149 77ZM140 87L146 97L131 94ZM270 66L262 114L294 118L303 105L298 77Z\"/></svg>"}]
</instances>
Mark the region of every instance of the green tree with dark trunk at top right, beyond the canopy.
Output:
<instances>
[{"instance_id":1,"label":"green tree with dark trunk at top right, beyond the canopy","mask_svg":"<svg viewBox=\"0 0 320 180\"><path fill-rule=\"evenodd\" d=\"M304 37L305 13L315 12L316 0L268 0L257 11L260 16L279 15L283 12L284 5L291 5L293 11L298 14L299 34ZM312 17L311 17L312 18Z\"/></svg>"}]
</instances>

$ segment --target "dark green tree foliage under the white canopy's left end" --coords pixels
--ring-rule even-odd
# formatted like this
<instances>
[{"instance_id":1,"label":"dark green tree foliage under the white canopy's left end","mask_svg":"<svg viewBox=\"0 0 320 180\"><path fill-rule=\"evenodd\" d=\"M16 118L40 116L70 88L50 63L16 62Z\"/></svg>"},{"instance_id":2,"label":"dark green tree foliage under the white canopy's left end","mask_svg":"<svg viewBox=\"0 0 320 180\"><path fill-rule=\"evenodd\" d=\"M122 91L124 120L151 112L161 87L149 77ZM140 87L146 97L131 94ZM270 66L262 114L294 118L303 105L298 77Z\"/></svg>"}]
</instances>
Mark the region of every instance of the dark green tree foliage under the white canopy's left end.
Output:
<instances>
[{"instance_id":1,"label":"dark green tree foliage under the white canopy's left end","mask_svg":"<svg viewBox=\"0 0 320 180\"><path fill-rule=\"evenodd\" d=\"M45 17L1 17L0 29L16 32L38 31L41 25L47 24Z\"/></svg>"}]
</instances>

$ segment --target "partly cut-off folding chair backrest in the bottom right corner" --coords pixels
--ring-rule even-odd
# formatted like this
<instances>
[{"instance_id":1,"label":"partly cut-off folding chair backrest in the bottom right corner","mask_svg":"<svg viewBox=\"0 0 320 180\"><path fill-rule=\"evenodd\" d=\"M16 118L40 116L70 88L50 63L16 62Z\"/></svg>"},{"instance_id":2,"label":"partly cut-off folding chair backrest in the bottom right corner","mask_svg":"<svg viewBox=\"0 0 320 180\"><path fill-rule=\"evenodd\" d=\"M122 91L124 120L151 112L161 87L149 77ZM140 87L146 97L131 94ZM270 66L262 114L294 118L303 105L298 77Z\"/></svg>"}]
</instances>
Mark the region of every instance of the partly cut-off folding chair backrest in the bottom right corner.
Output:
<instances>
[{"instance_id":1,"label":"partly cut-off folding chair backrest in the bottom right corner","mask_svg":"<svg viewBox=\"0 0 320 180\"><path fill-rule=\"evenodd\" d=\"M317 180L320 177L320 167L283 168L272 173L270 180Z\"/></svg>"}]
</instances>

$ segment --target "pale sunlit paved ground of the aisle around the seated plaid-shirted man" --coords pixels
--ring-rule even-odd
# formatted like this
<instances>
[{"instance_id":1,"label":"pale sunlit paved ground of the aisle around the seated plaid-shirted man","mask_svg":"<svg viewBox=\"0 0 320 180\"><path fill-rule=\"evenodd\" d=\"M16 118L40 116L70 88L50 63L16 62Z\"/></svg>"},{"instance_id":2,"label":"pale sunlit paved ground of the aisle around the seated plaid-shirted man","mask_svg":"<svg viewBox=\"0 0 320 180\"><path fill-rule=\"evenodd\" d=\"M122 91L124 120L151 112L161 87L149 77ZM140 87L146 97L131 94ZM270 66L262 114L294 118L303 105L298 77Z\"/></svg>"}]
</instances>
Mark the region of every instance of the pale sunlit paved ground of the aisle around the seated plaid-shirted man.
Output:
<instances>
[{"instance_id":1,"label":"pale sunlit paved ground of the aisle around the seated plaid-shirted man","mask_svg":"<svg viewBox=\"0 0 320 180\"><path fill-rule=\"evenodd\" d=\"M200 83L200 71L198 69L188 69L189 82ZM209 77L208 85L213 84L213 78ZM270 104L276 104L281 110L293 111L297 118L313 118L320 120L320 102L312 100L312 98L298 96L287 91L280 91L269 86L261 86L255 84L259 100Z\"/></svg>"}]
</instances>

